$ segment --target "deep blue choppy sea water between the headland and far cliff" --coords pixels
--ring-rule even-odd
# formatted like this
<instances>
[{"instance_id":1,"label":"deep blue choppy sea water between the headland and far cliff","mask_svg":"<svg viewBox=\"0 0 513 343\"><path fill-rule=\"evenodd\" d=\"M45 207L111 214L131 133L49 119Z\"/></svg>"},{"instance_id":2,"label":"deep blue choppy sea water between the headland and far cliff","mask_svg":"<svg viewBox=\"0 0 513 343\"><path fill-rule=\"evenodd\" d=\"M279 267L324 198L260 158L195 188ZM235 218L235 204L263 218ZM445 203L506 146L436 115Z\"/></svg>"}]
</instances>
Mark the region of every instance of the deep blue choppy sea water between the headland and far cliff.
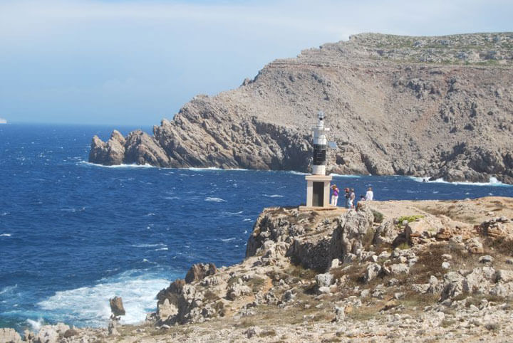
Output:
<instances>
[{"instance_id":1,"label":"deep blue choppy sea water between the headland and far cliff","mask_svg":"<svg viewBox=\"0 0 513 343\"><path fill-rule=\"evenodd\" d=\"M114 295L123 297L123 322L140 322L192 263L241 261L264 207L304 202L304 174L293 171L86 162L93 134L107 139L113 128L0 126L0 327L103 326ZM378 200L513 196L494 180L334 179L357 196L373 186Z\"/></svg>"}]
</instances>

